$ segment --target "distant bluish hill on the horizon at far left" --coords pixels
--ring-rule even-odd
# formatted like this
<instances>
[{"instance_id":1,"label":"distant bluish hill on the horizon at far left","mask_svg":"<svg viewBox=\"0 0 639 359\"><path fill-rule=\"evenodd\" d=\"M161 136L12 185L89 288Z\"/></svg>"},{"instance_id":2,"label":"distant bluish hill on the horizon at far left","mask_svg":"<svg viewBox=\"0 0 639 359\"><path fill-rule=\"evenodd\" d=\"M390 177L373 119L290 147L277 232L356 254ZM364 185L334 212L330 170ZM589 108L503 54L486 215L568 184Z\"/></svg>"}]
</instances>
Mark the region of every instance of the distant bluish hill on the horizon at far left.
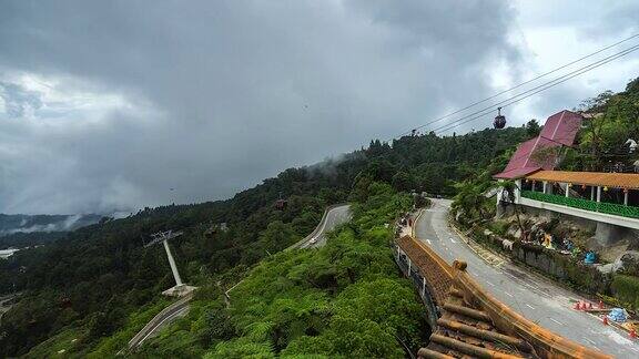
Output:
<instances>
[{"instance_id":1,"label":"distant bluish hill on the horizon at far left","mask_svg":"<svg viewBox=\"0 0 639 359\"><path fill-rule=\"evenodd\" d=\"M98 223L100 215L23 215L0 214L0 236L14 233L64 232Z\"/></svg>"}]
</instances>

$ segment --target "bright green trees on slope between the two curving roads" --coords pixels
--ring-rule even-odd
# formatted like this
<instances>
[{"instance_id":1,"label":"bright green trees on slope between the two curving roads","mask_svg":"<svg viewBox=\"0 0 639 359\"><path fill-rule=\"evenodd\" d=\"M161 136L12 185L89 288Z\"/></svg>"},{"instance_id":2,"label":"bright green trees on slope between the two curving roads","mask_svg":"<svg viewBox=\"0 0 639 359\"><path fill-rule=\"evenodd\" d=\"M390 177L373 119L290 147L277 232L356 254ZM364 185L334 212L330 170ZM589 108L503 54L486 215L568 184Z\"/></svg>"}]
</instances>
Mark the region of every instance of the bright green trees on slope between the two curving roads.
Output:
<instances>
[{"instance_id":1,"label":"bright green trees on slope between the two curving roads","mask_svg":"<svg viewBox=\"0 0 639 359\"><path fill-rule=\"evenodd\" d=\"M387 184L368 185L353 222L325 247L264 259L231 293L230 308L213 291L140 355L402 358L402 342L415 351L425 314L395 266L386 225L412 203Z\"/></svg>"}]
</instances>

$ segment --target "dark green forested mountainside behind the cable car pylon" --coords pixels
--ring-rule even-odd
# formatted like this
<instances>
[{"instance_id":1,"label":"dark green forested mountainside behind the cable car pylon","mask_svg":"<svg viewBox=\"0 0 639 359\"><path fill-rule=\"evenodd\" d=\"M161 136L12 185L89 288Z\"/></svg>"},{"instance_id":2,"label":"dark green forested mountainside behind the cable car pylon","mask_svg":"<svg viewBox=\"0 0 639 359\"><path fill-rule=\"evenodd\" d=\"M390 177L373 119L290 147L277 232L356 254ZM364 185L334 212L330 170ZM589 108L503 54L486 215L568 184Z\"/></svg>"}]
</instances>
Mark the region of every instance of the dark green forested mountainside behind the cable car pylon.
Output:
<instances>
[{"instance_id":1,"label":"dark green forested mountainside behind the cable car pylon","mask_svg":"<svg viewBox=\"0 0 639 359\"><path fill-rule=\"evenodd\" d=\"M57 335L78 339L79 352L91 351L128 328L130 316L152 317L163 305L159 294L173 280L162 249L143 247L155 232L184 230L172 246L187 283L230 286L310 233L326 205L365 203L374 182L453 195L455 182L526 136L527 129L509 127L372 141L339 161L286 170L226 201L144 208L20 250L0 261L0 294L22 294L0 324L0 356L24 355ZM287 199L284 211L274 207L280 196ZM220 230L221 223L229 229Z\"/></svg>"}]
</instances>

